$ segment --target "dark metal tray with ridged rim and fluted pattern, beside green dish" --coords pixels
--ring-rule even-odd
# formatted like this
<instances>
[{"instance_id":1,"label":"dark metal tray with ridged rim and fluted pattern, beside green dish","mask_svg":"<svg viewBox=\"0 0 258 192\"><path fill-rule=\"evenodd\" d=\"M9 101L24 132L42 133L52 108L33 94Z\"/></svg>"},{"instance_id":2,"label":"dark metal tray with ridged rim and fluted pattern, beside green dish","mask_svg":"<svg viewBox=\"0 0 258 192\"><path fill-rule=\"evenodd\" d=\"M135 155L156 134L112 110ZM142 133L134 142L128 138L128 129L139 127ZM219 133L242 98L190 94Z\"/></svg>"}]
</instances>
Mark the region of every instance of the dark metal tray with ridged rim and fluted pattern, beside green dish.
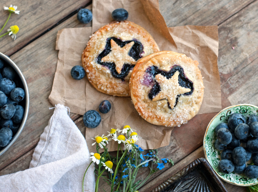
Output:
<instances>
[{"instance_id":1,"label":"dark metal tray with ridged rim and fluted pattern, beside green dish","mask_svg":"<svg viewBox=\"0 0 258 192\"><path fill-rule=\"evenodd\" d=\"M151 192L228 192L205 158L198 158Z\"/></svg>"}]
</instances>

